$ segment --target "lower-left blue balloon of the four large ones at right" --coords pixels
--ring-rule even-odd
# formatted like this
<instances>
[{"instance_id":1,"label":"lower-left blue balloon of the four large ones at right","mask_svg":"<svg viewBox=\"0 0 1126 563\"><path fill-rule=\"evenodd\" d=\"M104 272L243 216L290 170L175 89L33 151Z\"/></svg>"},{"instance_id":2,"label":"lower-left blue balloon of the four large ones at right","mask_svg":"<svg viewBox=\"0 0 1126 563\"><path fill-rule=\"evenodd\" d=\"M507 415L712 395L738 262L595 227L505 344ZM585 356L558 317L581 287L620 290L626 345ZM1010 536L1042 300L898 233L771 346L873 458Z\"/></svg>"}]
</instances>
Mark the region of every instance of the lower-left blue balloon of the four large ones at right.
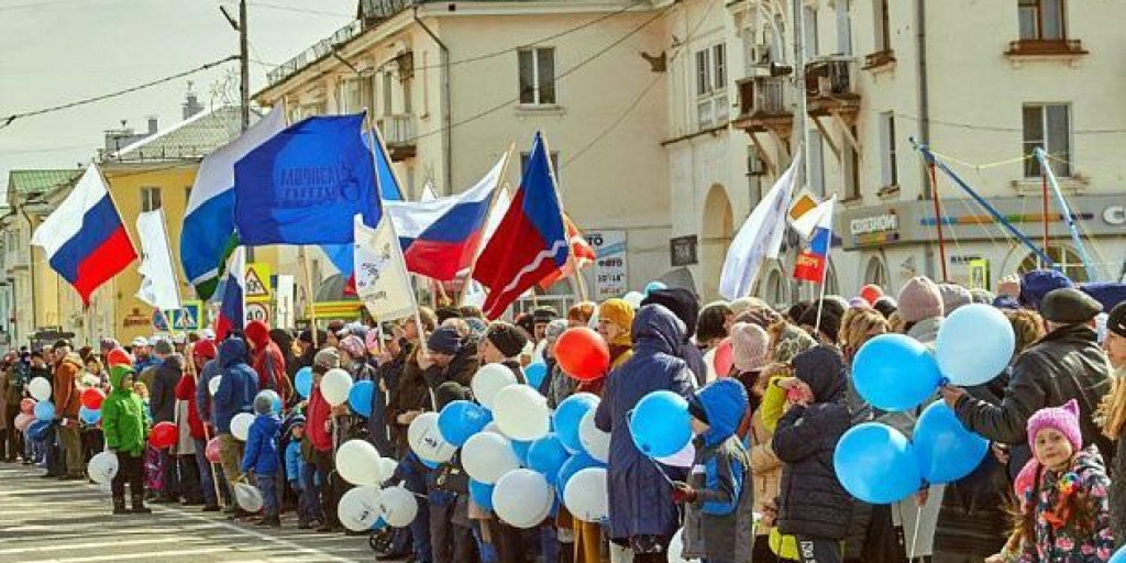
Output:
<instances>
[{"instance_id":1,"label":"lower-left blue balloon of the four large ones at right","mask_svg":"<svg viewBox=\"0 0 1126 563\"><path fill-rule=\"evenodd\" d=\"M881 422L865 422L844 432L833 452L833 470L852 497L869 504L899 502L923 484L911 443Z\"/></svg>"}]
</instances>

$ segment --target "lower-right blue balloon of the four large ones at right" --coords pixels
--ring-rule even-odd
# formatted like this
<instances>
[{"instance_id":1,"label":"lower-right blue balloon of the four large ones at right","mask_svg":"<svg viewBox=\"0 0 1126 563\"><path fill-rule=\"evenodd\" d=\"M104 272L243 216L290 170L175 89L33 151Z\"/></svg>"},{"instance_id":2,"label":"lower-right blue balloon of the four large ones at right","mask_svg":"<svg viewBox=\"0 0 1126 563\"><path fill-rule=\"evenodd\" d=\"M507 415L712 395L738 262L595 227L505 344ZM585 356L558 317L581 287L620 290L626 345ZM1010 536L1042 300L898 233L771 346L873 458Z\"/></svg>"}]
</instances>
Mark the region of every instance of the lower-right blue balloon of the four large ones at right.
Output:
<instances>
[{"instance_id":1,"label":"lower-right blue balloon of the four large ones at right","mask_svg":"<svg viewBox=\"0 0 1126 563\"><path fill-rule=\"evenodd\" d=\"M928 483L953 483L973 473L989 453L989 440L967 430L942 401L922 411L912 443Z\"/></svg>"}]
</instances>

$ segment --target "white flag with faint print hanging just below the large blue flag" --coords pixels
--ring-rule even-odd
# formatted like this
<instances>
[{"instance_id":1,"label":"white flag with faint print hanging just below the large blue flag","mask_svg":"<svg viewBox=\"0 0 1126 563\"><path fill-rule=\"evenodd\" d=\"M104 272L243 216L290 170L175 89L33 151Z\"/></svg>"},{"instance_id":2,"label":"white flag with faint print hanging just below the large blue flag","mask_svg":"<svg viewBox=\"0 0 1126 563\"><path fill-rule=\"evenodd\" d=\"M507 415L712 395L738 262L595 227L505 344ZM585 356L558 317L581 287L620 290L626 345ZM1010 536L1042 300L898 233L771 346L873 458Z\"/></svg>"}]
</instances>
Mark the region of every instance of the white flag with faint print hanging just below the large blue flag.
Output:
<instances>
[{"instance_id":1,"label":"white flag with faint print hanging just below the large blue flag","mask_svg":"<svg viewBox=\"0 0 1126 563\"><path fill-rule=\"evenodd\" d=\"M414 292L411 289L391 217L384 213L372 229L359 215L356 226L356 295L364 302L372 316L381 321L402 319L414 314Z\"/></svg>"}]
</instances>

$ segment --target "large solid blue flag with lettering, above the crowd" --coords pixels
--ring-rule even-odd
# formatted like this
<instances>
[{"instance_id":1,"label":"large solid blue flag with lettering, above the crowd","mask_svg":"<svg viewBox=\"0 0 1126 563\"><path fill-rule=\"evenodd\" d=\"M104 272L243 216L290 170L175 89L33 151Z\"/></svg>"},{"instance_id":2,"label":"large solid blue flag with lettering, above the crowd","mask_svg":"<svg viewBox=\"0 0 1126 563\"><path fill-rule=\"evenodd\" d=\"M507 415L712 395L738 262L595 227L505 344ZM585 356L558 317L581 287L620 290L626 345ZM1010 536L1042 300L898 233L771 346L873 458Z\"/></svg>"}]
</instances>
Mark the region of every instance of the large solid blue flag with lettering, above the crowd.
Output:
<instances>
[{"instance_id":1,"label":"large solid blue flag with lettering, above the crowd","mask_svg":"<svg viewBox=\"0 0 1126 563\"><path fill-rule=\"evenodd\" d=\"M346 244L352 217L378 218L364 114L310 117L234 164L234 224L245 245Z\"/></svg>"}]
</instances>

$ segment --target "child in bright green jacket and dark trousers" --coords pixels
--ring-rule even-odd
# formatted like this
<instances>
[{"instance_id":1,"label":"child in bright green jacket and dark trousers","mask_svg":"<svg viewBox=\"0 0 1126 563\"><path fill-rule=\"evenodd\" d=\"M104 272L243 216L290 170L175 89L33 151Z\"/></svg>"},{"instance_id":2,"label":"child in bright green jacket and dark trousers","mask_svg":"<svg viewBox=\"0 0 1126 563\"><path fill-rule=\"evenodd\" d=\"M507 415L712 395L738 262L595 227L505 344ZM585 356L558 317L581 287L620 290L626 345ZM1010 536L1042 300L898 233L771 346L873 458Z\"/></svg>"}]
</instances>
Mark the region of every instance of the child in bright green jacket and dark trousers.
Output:
<instances>
[{"instance_id":1,"label":"child in bright green jacket and dark trousers","mask_svg":"<svg viewBox=\"0 0 1126 563\"><path fill-rule=\"evenodd\" d=\"M149 422L141 397L133 392L133 367L126 365L109 368L113 391L101 403L101 429L106 436L106 449L117 454L117 475L114 476L114 513L124 515L125 481L129 482L133 512L151 513L144 506L144 446L149 437Z\"/></svg>"}]
</instances>

